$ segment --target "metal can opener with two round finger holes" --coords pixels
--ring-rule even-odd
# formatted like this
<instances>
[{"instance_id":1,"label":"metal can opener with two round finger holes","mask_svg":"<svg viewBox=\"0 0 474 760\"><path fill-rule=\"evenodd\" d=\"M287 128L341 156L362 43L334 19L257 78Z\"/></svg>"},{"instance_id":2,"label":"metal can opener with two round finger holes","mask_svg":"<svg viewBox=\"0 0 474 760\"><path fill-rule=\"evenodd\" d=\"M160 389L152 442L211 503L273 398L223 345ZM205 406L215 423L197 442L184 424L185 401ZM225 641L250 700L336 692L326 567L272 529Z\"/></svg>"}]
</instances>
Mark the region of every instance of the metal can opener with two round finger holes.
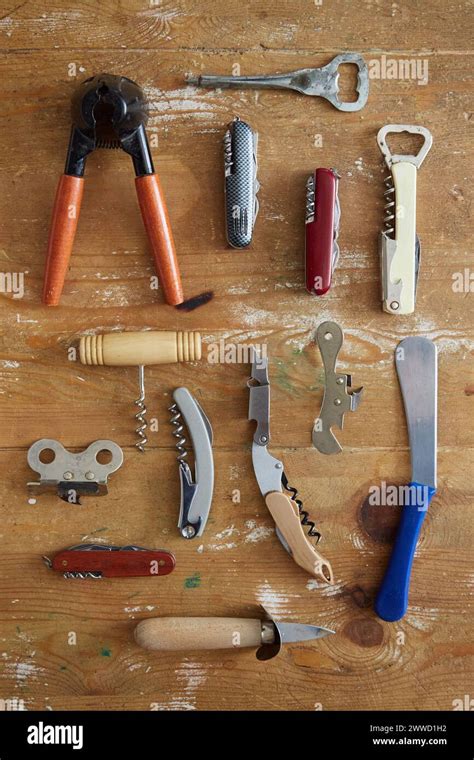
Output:
<instances>
[{"instance_id":1,"label":"metal can opener with two round finger holes","mask_svg":"<svg viewBox=\"0 0 474 760\"><path fill-rule=\"evenodd\" d=\"M43 452L54 454L51 462L42 462ZM97 455L108 452L110 462L101 464ZM69 504L80 504L80 496L103 496L107 493L107 478L123 463L123 452L113 441L94 441L85 451L77 454L67 451L59 441L42 438L28 450L28 464L39 473L39 481L28 483L28 490L36 495L44 491L57 491Z\"/></svg>"}]
</instances>

